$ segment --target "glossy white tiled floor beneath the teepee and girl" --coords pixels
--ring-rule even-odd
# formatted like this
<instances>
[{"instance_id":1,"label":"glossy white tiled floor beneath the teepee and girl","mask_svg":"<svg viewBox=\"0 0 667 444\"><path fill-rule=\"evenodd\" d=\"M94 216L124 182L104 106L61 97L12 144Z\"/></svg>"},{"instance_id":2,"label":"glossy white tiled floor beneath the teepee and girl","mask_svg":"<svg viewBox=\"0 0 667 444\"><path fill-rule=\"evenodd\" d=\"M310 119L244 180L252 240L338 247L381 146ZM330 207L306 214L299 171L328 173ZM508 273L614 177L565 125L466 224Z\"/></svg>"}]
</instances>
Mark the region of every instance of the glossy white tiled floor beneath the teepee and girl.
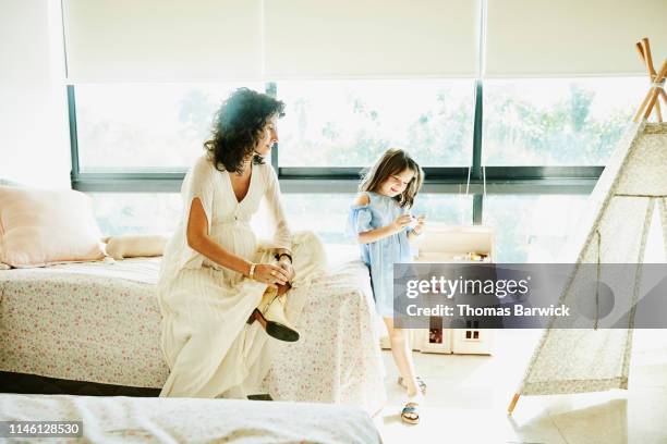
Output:
<instances>
[{"instance_id":1,"label":"glossy white tiled floor beneath the teepee and girl","mask_svg":"<svg viewBox=\"0 0 667 444\"><path fill-rule=\"evenodd\" d=\"M421 423L400 420L403 392L384 351L388 405L375 417L385 443L667 443L667 334L636 330L630 388L525 396L507 406L538 332L496 331L494 356L415 353L428 385ZM505 346L502 346L505 345Z\"/></svg>"}]
</instances>

